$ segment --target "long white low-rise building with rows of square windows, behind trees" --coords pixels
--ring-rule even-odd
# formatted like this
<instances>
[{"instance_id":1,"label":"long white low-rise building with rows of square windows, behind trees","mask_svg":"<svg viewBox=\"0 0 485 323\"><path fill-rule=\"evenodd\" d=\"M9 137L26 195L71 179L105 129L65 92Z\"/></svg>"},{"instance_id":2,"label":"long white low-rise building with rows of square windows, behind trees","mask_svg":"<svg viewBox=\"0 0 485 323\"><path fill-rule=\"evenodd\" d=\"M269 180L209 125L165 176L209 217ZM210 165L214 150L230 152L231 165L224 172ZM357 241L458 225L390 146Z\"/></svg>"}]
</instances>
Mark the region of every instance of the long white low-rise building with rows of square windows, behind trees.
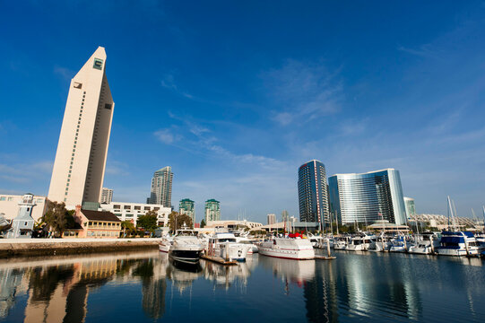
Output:
<instances>
[{"instance_id":1,"label":"long white low-rise building with rows of square windows, behind trees","mask_svg":"<svg viewBox=\"0 0 485 323\"><path fill-rule=\"evenodd\" d=\"M169 214L172 212L170 207L163 205L152 205L146 203L111 202L100 205L98 211L108 211L115 214L121 221L130 221L136 225L138 217L149 211L157 214L157 223L160 226L169 225Z\"/></svg>"}]
</instances>

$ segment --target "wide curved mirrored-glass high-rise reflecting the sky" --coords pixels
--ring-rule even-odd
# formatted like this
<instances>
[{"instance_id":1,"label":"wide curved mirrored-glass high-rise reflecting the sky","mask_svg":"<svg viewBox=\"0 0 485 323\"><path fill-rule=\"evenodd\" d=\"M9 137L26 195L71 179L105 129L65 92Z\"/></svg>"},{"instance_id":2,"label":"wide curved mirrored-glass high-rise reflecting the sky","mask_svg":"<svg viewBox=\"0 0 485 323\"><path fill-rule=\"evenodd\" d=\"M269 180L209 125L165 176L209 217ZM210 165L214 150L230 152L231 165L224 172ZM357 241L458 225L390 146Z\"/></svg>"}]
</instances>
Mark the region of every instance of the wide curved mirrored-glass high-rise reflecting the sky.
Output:
<instances>
[{"instance_id":1,"label":"wide curved mirrored-glass high-rise reflecting the sky","mask_svg":"<svg viewBox=\"0 0 485 323\"><path fill-rule=\"evenodd\" d=\"M339 223L371 224L379 220L406 223L399 170L336 174L328 182L332 216Z\"/></svg>"}]
</instances>

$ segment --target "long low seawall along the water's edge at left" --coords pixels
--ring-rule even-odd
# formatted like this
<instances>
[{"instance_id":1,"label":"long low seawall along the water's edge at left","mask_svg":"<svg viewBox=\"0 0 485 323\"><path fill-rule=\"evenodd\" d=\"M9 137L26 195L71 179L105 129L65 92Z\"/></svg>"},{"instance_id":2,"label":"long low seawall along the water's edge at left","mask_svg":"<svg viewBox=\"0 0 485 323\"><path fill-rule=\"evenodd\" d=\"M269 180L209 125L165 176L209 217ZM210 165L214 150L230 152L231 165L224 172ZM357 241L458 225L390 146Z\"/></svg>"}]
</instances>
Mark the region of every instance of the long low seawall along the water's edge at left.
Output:
<instances>
[{"instance_id":1,"label":"long low seawall along the water's edge at left","mask_svg":"<svg viewBox=\"0 0 485 323\"><path fill-rule=\"evenodd\" d=\"M0 258L157 249L160 239L0 239Z\"/></svg>"}]
</instances>

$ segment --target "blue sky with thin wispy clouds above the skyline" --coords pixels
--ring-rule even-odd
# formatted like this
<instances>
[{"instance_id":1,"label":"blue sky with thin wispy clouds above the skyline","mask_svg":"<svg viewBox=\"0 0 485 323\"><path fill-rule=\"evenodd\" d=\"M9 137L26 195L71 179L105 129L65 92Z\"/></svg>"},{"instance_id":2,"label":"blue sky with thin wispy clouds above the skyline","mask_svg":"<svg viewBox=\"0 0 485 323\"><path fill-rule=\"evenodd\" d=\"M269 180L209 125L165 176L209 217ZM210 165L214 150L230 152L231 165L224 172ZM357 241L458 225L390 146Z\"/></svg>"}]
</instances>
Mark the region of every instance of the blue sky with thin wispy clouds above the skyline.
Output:
<instances>
[{"instance_id":1,"label":"blue sky with thin wispy clouds above the skyline","mask_svg":"<svg viewBox=\"0 0 485 323\"><path fill-rule=\"evenodd\" d=\"M104 187L298 216L298 168L394 168L419 214L485 205L482 1L0 0L0 193L47 196L70 80L106 48Z\"/></svg>"}]
</instances>

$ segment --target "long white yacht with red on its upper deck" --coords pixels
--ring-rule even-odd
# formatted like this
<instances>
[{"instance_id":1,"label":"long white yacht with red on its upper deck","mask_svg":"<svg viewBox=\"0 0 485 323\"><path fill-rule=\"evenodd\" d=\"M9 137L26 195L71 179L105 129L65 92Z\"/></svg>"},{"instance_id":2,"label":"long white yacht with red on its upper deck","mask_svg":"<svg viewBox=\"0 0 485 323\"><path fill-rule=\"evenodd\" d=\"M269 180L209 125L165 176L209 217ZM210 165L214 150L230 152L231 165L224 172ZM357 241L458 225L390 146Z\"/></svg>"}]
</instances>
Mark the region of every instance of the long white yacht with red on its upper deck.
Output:
<instances>
[{"instance_id":1,"label":"long white yacht with red on its upper deck","mask_svg":"<svg viewBox=\"0 0 485 323\"><path fill-rule=\"evenodd\" d=\"M311 241L302 239L299 233L290 234L285 238L274 237L272 240L261 242L258 249L260 255L269 257L296 260L315 259L315 250Z\"/></svg>"}]
</instances>

